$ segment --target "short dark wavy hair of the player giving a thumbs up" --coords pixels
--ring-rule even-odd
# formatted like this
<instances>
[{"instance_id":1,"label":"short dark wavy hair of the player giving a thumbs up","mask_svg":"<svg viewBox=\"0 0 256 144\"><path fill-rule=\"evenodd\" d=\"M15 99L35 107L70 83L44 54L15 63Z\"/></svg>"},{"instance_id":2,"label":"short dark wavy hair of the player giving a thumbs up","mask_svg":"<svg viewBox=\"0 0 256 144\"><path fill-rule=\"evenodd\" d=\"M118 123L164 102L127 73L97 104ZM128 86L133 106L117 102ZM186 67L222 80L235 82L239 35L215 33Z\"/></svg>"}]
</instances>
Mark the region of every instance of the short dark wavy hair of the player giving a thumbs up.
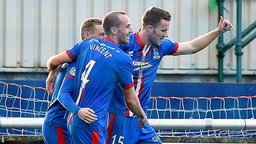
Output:
<instances>
[{"instance_id":1,"label":"short dark wavy hair of the player giving a thumbs up","mask_svg":"<svg viewBox=\"0 0 256 144\"><path fill-rule=\"evenodd\" d=\"M161 20L171 21L171 14L160 7L149 7L142 16L142 27L157 27Z\"/></svg>"}]
</instances>

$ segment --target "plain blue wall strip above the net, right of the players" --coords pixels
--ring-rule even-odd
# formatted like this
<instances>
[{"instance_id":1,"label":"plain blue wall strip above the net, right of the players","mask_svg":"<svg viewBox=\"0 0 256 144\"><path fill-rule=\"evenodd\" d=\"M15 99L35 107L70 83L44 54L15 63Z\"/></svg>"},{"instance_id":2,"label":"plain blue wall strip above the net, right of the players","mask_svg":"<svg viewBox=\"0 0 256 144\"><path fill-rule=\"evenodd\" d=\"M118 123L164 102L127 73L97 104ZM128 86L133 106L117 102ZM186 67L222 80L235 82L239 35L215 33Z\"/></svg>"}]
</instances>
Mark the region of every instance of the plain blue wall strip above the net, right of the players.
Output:
<instances>
[{"instance_id":1,"label":"plain blue wall strip above the net, right of the players","mask_svg":"<svg viewBox=\"0 0 256 144\"><path fill-rule=\"evenodd\" d=\"M151 96L225 97L254 96L256 83L155 82Z\"/></svg>"}]
</instances>

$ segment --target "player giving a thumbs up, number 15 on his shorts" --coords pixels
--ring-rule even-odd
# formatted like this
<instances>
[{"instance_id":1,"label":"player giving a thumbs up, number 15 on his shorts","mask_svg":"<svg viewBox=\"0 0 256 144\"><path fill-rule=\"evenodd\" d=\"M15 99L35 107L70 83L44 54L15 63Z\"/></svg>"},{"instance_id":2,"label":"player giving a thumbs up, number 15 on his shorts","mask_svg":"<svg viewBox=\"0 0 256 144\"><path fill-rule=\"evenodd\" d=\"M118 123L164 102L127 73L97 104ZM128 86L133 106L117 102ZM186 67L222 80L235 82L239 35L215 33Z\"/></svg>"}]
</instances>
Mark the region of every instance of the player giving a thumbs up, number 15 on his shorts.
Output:
<instances>
[{"instance_id":1,"label":"player giving a thumbs up, number 15 on his shorts","mask_svg":"<svg viewBox=\"0 0 256 144\"><path fill-rule=\"evenodd\" d=\"M151 87L162 57L197 53L220 34L233 28L228 20L223 20L221 17L219 26L215 30L192 41L177 43L166 39L170 21L171 14L167 10L150 7L142 16L142 29L130 35L129 44L119 46L133 59L135 91L145 113L147 113ZM161 143L149 123L146 123L142 129L134 126L138 120L133 118L133 113L126 107L125 101L119 98L122 96L121 87L117 87L108 107L111 116L107 128L107 144L119 144L120 140L124 144Z\"/></svg>"}]
</instances>

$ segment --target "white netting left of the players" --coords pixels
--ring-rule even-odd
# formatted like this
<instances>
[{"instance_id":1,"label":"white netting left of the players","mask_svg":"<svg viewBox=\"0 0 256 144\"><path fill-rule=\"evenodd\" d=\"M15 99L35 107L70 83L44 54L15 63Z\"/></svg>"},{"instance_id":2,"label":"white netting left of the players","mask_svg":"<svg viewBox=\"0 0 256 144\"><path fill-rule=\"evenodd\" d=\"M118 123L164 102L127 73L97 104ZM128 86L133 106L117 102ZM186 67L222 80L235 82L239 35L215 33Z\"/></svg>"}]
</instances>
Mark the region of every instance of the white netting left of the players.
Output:
<instances>
[{"instance_id":1,"label":"white netting left of the players","mask_svg":"<svg viewBox=\"0 0 256 144\"><path fill-rule=\"evenodd\" d=\"M0 117L45 117L51 97L42 87L0 82ZM41 129L0 129L5 135L38 135Z\"/></svg>"}]
</instances>

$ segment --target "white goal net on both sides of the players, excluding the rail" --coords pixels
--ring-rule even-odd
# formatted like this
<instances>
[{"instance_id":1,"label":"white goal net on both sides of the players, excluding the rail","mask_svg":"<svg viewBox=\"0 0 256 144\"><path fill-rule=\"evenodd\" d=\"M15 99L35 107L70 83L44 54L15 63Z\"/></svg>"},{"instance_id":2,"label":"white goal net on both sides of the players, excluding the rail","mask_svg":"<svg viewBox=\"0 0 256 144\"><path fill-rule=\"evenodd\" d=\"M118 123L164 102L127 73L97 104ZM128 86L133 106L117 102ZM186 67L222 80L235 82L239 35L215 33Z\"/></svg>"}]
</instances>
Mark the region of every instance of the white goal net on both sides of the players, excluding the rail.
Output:
<instances>
[{"instance_id":1,"label":"white goal net on both sides of the players, excluding the rail","mask_svg":"<svg viewBox=\"0 0 256 144\"><path fill-rule=\"evenodd\" d=\"M0 82L0 117L45 117L46 89ZM256 96L151 97L149 119L254 119ZM156 130L162 137L256 137L256 130ZM41 129L0 129L5 135L41 135Z\"/></svg>"}]
</instances>

